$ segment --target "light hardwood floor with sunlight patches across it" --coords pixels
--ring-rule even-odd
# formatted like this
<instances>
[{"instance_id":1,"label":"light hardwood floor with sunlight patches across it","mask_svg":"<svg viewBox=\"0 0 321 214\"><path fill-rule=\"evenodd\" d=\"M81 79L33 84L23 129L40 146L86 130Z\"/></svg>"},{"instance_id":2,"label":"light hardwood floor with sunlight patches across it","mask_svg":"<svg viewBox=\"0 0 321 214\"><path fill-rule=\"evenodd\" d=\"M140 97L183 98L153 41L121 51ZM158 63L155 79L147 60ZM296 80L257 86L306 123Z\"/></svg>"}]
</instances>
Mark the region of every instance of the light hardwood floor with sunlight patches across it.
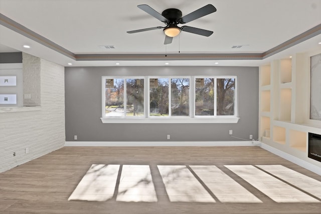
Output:
<instances>
[{"instance_id":1,"label":"light hardwood floor with sunlight patches across it","mask_svg":"<svg viewBox=\"0 0 321 214\"><path fill-rule=\"evenodd\" d=\"M0 213L320 214L319 183L259 147L64 147L0 173Z\"/></svg>"}]
</instances>

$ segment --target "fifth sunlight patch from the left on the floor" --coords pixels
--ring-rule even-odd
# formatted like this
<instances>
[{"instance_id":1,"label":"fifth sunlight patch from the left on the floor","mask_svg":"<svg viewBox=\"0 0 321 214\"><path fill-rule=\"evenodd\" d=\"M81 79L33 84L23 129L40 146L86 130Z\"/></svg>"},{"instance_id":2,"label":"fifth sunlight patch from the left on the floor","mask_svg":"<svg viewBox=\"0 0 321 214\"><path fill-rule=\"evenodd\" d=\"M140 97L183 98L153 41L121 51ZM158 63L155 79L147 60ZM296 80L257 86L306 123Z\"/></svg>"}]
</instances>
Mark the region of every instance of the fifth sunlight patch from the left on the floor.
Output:
<instances>
[{"instance_id":1,"label":"fifth sunlight patch from the left on the floor","mask_svg":"<svg viewBox=\"0 0 321 214\"><path fill-rule=\"evenodd\" d=\"M253 165L225 165L275 202L320 202Z\"/></svg>"}]
</instances>

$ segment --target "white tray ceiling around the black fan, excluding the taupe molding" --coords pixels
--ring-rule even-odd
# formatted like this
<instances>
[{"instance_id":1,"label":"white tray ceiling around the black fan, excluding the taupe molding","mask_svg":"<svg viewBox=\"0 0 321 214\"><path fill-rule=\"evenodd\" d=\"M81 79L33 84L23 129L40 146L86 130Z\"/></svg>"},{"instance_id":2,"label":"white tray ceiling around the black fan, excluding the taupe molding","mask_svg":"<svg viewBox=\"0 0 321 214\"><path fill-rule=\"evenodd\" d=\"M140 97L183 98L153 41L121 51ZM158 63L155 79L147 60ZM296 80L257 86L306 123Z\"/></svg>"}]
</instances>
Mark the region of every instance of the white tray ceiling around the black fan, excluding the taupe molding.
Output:
<instances>
[{"instance_id":1,"label":"white tray ceiling around the black fan, excluding the taupe molding","mask_svg":"<svg viewBox=\"0 0 321 214\"><path fill-rule=\"evenodd\" d=\"M165 24L137 8L147 4L158 13L177 8L187 15L207 4L217 12L185 25L214 31L210 37L182 32L164 45L163 30L126 31ZM321 0L0 0L0 13L74 54L235 54L264 53L321 24ZM265 60L75 61L5 26L0 52L26 52L63 66L258 66L273 57L321 49L320 34ZM23 45L30 45L24 49ZM99 46L113 45L115 49ZM233 45L244 45L232 49ZM214 64L219 62L219 64Z\"/></svg>"}]
</instances>

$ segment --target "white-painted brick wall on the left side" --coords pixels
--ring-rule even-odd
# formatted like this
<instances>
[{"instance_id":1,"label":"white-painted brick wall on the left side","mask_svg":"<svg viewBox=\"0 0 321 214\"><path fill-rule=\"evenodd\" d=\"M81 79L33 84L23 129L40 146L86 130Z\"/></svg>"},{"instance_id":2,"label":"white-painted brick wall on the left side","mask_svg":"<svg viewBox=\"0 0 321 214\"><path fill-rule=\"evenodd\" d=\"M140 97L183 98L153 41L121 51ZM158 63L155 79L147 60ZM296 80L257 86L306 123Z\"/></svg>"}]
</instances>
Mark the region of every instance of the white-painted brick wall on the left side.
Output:
<instances>
[{"instance_id":1,"label":"white-painted brick wall on the left side","mask_svg":"<svg viewBox=\"0 0 321 214\"><path fill-rule=\"evenodd\" d=\"M65 144L64 67L43 59L35 60L35 57L28 54L24 54L23 58L23 64L30 60L35 62L29 63L29 68L39 68L40 64L41 109L0 113L0 172L57 150ZM24 84L39 85L39 80ZM26 148L29 148L27 154ZM16 152L15 157L13 152Z\"/></svg>"}]
</instances>

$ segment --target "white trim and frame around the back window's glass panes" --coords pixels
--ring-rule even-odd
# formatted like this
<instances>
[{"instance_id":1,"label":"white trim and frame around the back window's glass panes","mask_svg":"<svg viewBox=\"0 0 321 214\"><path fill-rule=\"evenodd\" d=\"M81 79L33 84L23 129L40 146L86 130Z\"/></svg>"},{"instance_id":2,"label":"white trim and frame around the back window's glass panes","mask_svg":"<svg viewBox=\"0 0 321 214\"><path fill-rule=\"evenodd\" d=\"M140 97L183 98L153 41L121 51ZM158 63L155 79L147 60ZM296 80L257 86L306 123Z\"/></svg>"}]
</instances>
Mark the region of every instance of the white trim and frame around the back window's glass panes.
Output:
<instances>
[{"instance_id":1,"label":"white trim and frame around the back window's glass panes","mask_svg":"<svg viewBox=\"0 0 321 214\"><path fill-rule=\"evenodd\" d=\"M144 117L106 117L105 115L105 79L144 79ZM172 78L185 78L190 79L189 90L189 115L190 116L168 116L156 117L149 116L149 79L150 78L168 78L169 79L169 112L171 112L171 79ZM196 78L234 78L235 79L235 94L234 94L234 115L216 115L214 116L201 116L195 115L195 79ZM102 76L102 123L237 123L239 121L238 115L238 78L237 76ZM214 87L216 88L216 81ZM125 90L125 86L124 86ZM193 93L192 93L193 92ZM215 93L214 105L217 105L217 97ZM193 103L192 103L193 101ZM125 99L124 99L125 102Z\"/></svg>"}]
</instances>

